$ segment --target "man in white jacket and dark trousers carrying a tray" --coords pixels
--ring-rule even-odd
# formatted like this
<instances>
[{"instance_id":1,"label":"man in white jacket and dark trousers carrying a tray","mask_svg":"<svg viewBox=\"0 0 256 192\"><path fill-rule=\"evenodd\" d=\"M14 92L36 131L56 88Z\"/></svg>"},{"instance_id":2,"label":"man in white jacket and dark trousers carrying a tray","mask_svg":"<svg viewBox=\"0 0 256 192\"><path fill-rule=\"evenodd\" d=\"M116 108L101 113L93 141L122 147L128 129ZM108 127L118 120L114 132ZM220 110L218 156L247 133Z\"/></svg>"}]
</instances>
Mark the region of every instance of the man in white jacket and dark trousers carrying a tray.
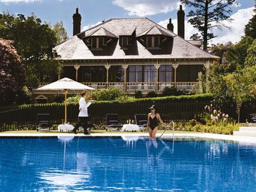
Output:
<instances>
[{"instance_id":1,"label":"man in white jacket and dark trousers carrying a tray","mask_svg":"<svg viewBox=\"0 0 256 192\"><path fill-rule=\"evenodd\" d=\"M89 134L87 131L88 127L88 110L87 107L89 107L92 103L92 101L89 101L86 103L85 99L87 98L87 94L85 91L81 93L81 98L79 100L79 114L78 114L78 123L76 123L76 127L72 130L75 134L79 127L83 127L83 133Z\"/></svg>"}]
</instances>

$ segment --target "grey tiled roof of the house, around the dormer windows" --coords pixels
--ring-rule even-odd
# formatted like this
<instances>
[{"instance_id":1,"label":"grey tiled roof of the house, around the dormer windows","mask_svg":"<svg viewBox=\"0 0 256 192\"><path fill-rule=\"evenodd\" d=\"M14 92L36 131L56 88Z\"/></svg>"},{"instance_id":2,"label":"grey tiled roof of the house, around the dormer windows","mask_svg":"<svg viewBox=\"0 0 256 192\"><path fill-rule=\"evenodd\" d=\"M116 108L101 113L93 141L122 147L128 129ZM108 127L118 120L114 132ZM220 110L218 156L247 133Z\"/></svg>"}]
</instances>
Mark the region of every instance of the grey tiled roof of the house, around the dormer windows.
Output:
<instances>
[{"instance_id":1,"label":"grey tiled roof of the house, around the dormer windows","mask_svg":"<svg viewBox=\"0 0 256 192\"><path fill-rule=\"evenodd\" d=\"M101 34L109 36L131 36L134 30L136 36L144 32L152 33L161 32L165 36L173 37L173 49L171 54L152 54L139 41L136 41L138 54L125 54L121 49L119 42L114 47L114 52L111 56L96 56L92 54L91 50L83 42L83 38L92 34ZM213 56L208 52L192 45L180 36L177 36L170 30L156 24L147 18L133 18L133 19L109 19L95 27L89 28L80 34L70 37L67 41L60 43L55 47L61 59L140 59L140 58L219 58Z\"/></svg>"}]
</instances>

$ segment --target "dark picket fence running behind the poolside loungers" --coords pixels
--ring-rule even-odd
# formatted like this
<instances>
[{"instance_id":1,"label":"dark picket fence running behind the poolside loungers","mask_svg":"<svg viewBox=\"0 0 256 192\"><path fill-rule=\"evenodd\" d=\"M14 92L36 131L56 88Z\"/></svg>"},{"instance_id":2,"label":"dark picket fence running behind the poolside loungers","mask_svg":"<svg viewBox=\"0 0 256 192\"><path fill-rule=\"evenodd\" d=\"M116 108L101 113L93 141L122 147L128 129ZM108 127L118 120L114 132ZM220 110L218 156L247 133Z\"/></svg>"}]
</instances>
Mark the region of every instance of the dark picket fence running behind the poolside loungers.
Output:
<instances>
[{"instance_id":1,"label":"dark picket fence running behind the poolside loungers","mask_svg":"<svg viewBox=\"0 0 256 192\"><path fill-rule=\"evenodd\" d=\"M204 111L204 106L209 105L208 100L169 100L156 101L154 104L158 106L162 119L166 122L171 120L190 120L198 118ZM134 120L134 114L147 113L152 101L141 103L96 103L89 107L89 114L95 124L105 124L105 114L118 113L120 121L125 123L127 120ZM229 116L237 119L235 105L226 103L222 107L222 111ZM75 123L78 120L78 105L68 105L67 118L68 122ZM37 114L49 113L52 123L62 123L64 118L63 104L49 105L29 105L19 107L10 111L0 112L0 131L21 130L21 129L36 129ZM242 106L240 122L245 122L246 119L256 114L256 101L246 103ZM102 127L103 129L105 127Z\"/></svg>"}]
</instances>

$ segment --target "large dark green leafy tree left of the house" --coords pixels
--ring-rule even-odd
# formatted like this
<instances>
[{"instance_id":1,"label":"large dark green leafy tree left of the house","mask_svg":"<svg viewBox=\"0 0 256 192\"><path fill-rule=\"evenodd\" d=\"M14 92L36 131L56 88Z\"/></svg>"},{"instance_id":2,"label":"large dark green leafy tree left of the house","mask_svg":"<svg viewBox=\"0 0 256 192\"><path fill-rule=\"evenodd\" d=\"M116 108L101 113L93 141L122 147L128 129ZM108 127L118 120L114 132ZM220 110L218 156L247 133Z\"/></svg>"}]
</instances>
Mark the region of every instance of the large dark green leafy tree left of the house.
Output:
<instances>
[{"instance_id":1,"label":"large dark green leafy tree left of the house","mask_svg":"<svg viewBox=\"0 0 256 192\"><path fill-rule=\"evenodd\" d=\"M58 41L56 34L34 14L29 17L8 12L0 14L0 37L14 41L14 47L26 65L28 87L37 87L40 74L50 76L58 72L60 64L53 62L57 54L52 50ZM51 63L52 71L49 71L49 65L45 65L47 63Z\"/></svg>"}]
</instances>

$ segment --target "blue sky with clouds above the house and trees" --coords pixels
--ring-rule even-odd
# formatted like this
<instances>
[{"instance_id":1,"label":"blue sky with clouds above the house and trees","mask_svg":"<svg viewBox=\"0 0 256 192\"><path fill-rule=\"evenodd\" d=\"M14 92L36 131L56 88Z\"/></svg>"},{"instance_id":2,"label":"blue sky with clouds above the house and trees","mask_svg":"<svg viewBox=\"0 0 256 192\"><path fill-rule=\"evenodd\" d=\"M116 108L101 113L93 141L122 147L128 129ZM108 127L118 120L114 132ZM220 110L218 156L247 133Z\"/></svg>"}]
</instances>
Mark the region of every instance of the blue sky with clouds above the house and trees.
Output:
<instances>
[{"instance_id":1,"label":"blue sky with clouds above the house and trees","mask_svg":"<svg viewBox=\"0 0 256 192\"><path fill-rule=\"evenodd\" d=\"M240 0L239 3L240 6L233 7L232 14L240 13L234 16L235 19L247 17L239 21L244 25L252 16L254 1ZM25 16L30 16L34 12L42 21L50 23L63 21L68 35L72 36L72 14L76 6L79 7L82 16L81 28L88 28L104 19L119 17L149 17L165 27L169 17L174 19L174 23L176 22L178 5L178 0L0 0L0 12L8 11L12 14L25 14ZM188 9L185 9L186 13ZM237 26L237 23L232 27L235 25ZM194 32L191 26L186 27L189 33ZM218 33L221 35L222 32ZM238 36L240 35L242 34L239 32Z\"/></svg>"}]
</instances>

